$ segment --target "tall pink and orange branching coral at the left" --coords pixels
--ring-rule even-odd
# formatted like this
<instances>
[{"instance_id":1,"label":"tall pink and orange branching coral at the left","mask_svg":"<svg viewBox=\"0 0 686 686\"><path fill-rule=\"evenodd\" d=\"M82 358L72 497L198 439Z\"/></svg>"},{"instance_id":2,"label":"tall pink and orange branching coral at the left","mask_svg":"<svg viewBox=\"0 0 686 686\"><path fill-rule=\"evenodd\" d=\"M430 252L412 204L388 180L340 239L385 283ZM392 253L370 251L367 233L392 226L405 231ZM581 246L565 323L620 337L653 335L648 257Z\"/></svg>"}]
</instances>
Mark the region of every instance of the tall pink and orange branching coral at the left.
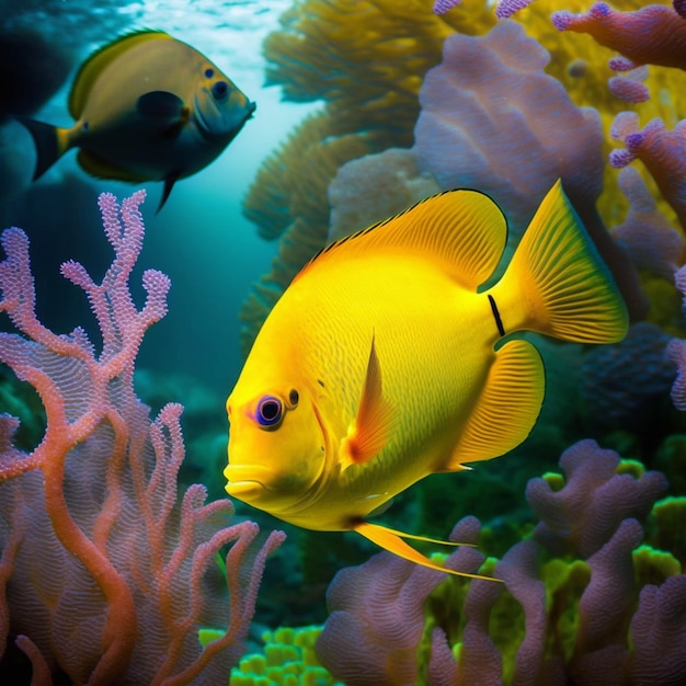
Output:
<instances>
[{"instance_id":1,"label":"tall pink and orange branching coral at the left","mask_svg":"<svg viewBox=\"0 0 686 686\"><path fill-rule=\"evenodd\" d=\"M39 322L27 238L2 235L0 311L21 333L0 333L0 361L36 389L47 428L24 454L13 446L19 421L0 415L0 653L23 651L35 683L50 674L72 684L226 681L266 556L283 539L275 531L250 549L258 526L226 526L230 502L204 504L199 484L178 503L182 408L168 404L150 422L133 386L138 347L164 316L169 289L167 276L146 271L138 310L128 288L144 197L121 210L114 196L100 198L115 252L102 283L79 263L61 268L90 301L100 355L84 330L57 335ZM229 544L222 581L216 557ZM198 628L227 621L203 649Z\"/></svg>"}]
</instances>

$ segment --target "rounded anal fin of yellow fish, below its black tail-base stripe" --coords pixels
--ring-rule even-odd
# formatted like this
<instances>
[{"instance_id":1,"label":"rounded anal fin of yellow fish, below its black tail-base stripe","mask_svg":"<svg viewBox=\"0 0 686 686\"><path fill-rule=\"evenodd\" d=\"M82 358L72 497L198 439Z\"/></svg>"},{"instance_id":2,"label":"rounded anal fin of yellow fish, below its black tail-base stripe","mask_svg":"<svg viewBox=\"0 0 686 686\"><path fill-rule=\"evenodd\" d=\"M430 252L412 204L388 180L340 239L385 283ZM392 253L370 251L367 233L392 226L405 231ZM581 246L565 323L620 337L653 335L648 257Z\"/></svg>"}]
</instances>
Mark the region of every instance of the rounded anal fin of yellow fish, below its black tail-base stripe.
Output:
<instances>
[{"instance_id":1,"label":"rounded anal fin of yellow fish, below its black tail-base stripe","mask_svg":"<svg viewBox=\"0 0 686 686\"><path fill-rule=\"evenodd\" d=\"M538 419L544 392L538 351L527 341L505 343L495 353L481 396L443 469L464 469L465 462L499 457L518 446Z\"/></svg>"}]
</instances>

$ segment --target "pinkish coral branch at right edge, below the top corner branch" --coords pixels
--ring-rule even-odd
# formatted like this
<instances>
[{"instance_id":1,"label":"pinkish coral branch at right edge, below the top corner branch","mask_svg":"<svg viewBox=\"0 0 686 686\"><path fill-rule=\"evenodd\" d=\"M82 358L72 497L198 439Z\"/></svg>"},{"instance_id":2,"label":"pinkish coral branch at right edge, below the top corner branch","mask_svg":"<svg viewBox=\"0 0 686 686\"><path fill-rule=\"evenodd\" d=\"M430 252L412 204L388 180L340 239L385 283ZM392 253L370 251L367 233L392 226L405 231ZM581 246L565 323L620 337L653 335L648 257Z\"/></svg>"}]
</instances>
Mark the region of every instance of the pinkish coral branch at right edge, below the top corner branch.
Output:
<instances>
[{"instance_id":1,"label":"pinkish coral branch at right edge, below the top corner branch","mask_svg":"<svg viewBox=\"0 0 686 686\"><path fill-rule=\"evenodd\" d=\"M626 167L636 159L641 160L686 231L686 119L673 130L667 130L659 118L641 129L638 114L621 112L615 118L610 135L626 146L611 151L610 163Z\"/></svg>"}]
</instances>

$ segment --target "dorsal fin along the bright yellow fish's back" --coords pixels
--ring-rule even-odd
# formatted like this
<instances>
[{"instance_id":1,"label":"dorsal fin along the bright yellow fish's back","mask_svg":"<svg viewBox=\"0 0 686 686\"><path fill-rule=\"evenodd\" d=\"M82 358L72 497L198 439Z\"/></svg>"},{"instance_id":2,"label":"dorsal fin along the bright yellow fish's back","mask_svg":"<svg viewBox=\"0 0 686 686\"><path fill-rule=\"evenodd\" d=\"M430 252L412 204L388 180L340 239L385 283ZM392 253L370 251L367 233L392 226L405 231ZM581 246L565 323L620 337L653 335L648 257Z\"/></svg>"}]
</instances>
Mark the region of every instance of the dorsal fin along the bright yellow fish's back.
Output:
<instances>
[{"instance_id":1,"label":"dorsal fin along the bright yellow fish's back","mask_svg":"<svg viewBox=\"0 0 686 686\"><path fill-rule=\"evenodd\" d=\"M506 240L505 217L488 195L447 191L331 243L305 265L296 279L331 260L400 251L433 261L458 284L475 291L492 276Z\"/></svg>"}]
</instances>

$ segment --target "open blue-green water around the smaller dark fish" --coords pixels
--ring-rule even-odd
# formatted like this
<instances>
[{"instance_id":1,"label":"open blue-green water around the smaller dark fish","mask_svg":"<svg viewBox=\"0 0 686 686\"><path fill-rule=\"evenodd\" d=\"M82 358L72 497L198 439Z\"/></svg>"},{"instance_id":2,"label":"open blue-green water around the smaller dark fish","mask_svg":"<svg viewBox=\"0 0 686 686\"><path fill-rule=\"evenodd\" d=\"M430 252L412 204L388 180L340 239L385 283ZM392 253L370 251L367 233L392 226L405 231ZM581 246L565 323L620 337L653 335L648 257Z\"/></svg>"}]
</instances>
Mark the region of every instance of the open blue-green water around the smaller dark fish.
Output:
<instances>
[{"instance_id":1,"label":"open blue-green water around the smaller dark fish","mask_svg":"<svg viewBox=\"0 0 686 686\"><path fill-rule=\"evenodd\" d=\"M172 279L170 312L148 333L139 367L191 375L227 396L242 366L238 310L251 282L268 271L275 245L256 237L241 214L241 201L262 160L317 105L281 102L278 88L265 88L261 44L278 26L288 0L3 0L0 30L30 26L72 53L75 69L100 45L135 28L160 28L215 61L258 110L222 156L198 174L179 182L164 208L155 214L160 183L145 184L146 242L141 268L155 267ZM22 55L16 55L21 62ZM50 124L69 125L67 96L72 77L35 114ZM32 155L26 144L26 158ZM0 142L1 149L1 142ZM1 170L0 170L1 171ZM2 182L7 182L2 179ZM102 273L111 253L95 205L96 194L129 195L137 185L90 178L76 152L61 158L16 198L3 225L27 231L36 265L39 315L57 331L88 324L82 295L59 276L59 264L77 259ZM22 202L23 199L23 202ZM2 227L4 228L4 227ZM179 400L183 398L169 398Z\"/></svg>"}]
</instances>

